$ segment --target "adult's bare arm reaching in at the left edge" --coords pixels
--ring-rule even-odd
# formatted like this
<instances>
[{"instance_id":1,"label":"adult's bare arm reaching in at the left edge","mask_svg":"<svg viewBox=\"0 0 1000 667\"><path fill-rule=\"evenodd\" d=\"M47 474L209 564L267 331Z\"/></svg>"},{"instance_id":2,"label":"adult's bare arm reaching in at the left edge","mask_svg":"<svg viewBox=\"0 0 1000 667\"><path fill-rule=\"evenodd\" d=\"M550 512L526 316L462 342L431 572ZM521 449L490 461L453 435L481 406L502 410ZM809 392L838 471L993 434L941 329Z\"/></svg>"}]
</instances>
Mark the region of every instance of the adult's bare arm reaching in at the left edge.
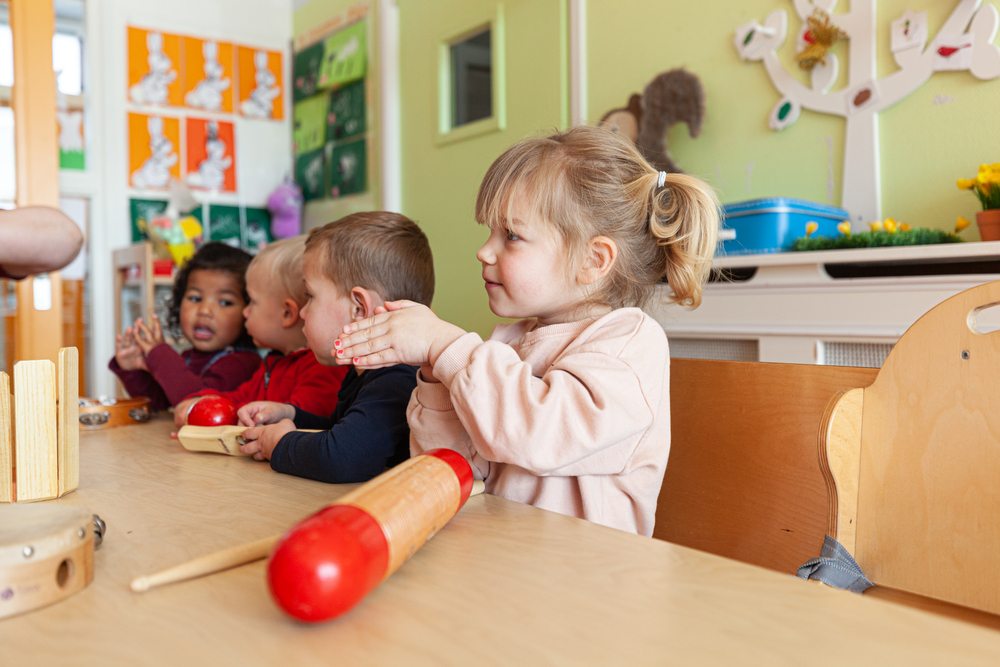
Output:
<instances>
[{"instance_id":1,"label":"adult's bare arm reaching in at the left edge","mask_svg":"<svg viewBox=\"0 0 1000 667\"><path fill-rule=\"evenodd\" d=\"M0 211L0 267L11 277L61 269L82 246L80 228L59 209L24 206Z\"/></svg>"}]
</instances>

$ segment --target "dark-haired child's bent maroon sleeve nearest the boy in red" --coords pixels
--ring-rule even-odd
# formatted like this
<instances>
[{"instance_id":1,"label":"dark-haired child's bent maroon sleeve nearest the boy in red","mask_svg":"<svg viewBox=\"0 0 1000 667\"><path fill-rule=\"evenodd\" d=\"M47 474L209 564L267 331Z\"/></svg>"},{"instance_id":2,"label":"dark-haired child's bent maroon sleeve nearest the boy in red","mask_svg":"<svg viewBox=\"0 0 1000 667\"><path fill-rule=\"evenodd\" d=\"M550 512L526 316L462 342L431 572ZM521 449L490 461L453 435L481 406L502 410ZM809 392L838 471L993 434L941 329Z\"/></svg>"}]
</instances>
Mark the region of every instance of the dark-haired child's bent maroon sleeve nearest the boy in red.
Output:
<instances>
[{"instance_id":1,"label":"dark-haired child's bent maroon sleeve nearest the boy in red","mask_svg":"<svg viewBox=\"0 0 1000 667\"><path fill-rule=\"evenodd\" d=\"M198 375L166 343L157 345L146 355L146 366L163 387L171 405L177 405L202 389L230 391L250 379L260 357L254 352L233 352L218 359L202 375Z\"/></svg>"}]
</instances>

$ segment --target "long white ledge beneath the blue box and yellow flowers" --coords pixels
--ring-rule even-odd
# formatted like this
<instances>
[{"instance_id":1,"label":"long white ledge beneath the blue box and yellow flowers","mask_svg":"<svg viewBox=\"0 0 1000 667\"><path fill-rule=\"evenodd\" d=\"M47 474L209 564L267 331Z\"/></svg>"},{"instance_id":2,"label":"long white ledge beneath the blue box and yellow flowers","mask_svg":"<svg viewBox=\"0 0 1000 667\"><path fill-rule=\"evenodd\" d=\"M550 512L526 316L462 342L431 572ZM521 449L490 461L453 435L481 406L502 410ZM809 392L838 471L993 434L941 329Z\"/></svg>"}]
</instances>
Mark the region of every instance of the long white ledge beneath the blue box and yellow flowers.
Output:
<instances>
[{"instance_id":1,"label":"long white ledge beneath the blue box and yellow flowers","mask_svg":"<svg viewBox=\"0 0 1000 667\"><path fill-rule=\"evenodd\" d=\"M712 265L717 269L737 269L803 264L937 263L988 259L1000 259L1000 241L729 255L716 257Z\"/></svg>"}]
</instances>

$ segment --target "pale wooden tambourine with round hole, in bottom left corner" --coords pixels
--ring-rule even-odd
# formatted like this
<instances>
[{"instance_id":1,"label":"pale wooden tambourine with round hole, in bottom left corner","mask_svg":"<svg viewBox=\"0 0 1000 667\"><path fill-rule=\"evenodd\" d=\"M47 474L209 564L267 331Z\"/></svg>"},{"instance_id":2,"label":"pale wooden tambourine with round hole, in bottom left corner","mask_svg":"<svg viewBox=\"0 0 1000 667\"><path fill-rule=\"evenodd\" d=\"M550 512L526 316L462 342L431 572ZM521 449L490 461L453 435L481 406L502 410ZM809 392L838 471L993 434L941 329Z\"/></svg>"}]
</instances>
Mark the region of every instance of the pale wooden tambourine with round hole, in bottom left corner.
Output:
<instances>
[{"instance_id":1,"label":"pale wooden tambourine with round hole, in bottom left corner","mask_svg":"<svg viewBox=\"0 0 1000 667\"><path fill-rule=\"evenodd\" d=\"M86 588L104 529L96 514L79 507L0 505L0 618Z\"/></svg>"}]
</instances>

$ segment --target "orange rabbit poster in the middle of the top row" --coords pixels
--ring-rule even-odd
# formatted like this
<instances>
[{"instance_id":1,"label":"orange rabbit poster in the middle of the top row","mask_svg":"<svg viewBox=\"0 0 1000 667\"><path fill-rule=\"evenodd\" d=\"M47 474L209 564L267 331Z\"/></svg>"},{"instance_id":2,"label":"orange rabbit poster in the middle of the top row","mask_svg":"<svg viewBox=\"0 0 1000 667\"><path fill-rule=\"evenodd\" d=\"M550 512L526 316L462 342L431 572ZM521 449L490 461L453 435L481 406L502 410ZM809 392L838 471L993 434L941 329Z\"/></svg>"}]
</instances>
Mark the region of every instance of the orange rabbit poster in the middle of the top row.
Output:
<instances>
[{"instance_id":1,"label":"orange rabbit poster in the middle of the top row","mask_svg":"<svg viewBox=\"0 0 1000 667\"><path fill-rule=\"evenodd\" d=\"M184 104L233 112L233 45L184 38Z\"/></svg>"}]
</instances>

